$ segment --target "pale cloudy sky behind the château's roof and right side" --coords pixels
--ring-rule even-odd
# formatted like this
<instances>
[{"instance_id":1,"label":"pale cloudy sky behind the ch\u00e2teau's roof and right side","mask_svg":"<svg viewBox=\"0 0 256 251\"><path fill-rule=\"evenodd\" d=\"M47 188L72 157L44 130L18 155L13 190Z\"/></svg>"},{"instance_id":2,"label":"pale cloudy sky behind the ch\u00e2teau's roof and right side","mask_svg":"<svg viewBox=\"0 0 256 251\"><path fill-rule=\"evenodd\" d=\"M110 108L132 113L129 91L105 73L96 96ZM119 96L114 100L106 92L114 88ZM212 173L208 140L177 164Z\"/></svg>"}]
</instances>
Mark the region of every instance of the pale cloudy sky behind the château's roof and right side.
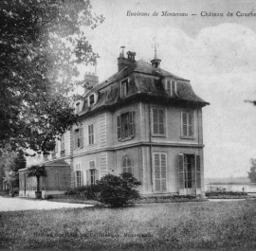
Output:
<instances>
[{"instance_id":1,"label":"pale cloudy sky behind the ch\u00e2teau's roof and right side","mask_svg":"<svg viewBox=\"0 0 256 251\"><path fill-rule=\"evenodd\" d=\"M190 80L195 94L210 102L203 108L205 177L247 176L249 159L256 158L256 106L245 102L256 99L256 1L91 3L93 12L105 17L94 30L84 27L101 57L100 81L118 71L122 45L137 53L136 60L150 62L155 37L161 67ZM129 16L128 11L149 15ZM188 16L161 16L162 11ZM154 12L158 15L153 16ZM250 12L255 16L243 16ZM81 68L82 74L85 71L93 68Z\"/></svg>"}]
</instances>

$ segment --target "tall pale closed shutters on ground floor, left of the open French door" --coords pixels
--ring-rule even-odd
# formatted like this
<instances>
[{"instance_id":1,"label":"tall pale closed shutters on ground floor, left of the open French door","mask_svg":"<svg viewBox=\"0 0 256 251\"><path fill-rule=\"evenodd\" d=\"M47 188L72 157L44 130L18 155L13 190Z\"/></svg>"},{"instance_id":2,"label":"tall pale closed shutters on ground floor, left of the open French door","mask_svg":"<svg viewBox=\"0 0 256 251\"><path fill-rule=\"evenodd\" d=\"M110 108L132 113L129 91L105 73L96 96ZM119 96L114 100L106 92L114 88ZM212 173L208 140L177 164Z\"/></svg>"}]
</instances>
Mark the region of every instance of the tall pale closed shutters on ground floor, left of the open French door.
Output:
<instances>
[{"instance_id":1,"label":"tall pale closed shutters on ground floor, left of the open French door","mask_svg":"<svg viewBox=\"0 0 256 251\"><path fill-rule=\"evenodd\" d=\"M155 191L166 191L166 153L154 153Z\"/></svg>"}]
</instances>

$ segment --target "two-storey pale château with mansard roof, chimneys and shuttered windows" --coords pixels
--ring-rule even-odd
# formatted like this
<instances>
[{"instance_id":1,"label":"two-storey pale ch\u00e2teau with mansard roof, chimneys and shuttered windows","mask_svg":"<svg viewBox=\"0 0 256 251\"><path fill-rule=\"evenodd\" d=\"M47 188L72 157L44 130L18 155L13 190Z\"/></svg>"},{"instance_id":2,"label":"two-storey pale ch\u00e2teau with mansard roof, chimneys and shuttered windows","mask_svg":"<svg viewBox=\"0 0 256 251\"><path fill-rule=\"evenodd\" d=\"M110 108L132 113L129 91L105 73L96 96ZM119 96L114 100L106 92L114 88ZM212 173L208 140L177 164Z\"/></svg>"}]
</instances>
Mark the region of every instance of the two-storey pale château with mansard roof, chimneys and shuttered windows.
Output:
<instances>
[{"instance_id":1,"label":"two-storey pale ch\u00e2teau with mansard roof, chimneys and shuttered windows","mask_svg":"<svg viewBox=\"0 0 256 251\"><path fill-rule=\"evenodd\" d=\"M101 83L85 75L93 88L75 104L82 125L45 156L43 197L122 171L135 175L143 195L204 196L202 108L209 103L190 81L160 68L156 52L151 63L135 56L125 57L122 47L119 71ZM35 181L26 172L20 170L20 195L32 196Z\"/></svg>"}]
</instances>

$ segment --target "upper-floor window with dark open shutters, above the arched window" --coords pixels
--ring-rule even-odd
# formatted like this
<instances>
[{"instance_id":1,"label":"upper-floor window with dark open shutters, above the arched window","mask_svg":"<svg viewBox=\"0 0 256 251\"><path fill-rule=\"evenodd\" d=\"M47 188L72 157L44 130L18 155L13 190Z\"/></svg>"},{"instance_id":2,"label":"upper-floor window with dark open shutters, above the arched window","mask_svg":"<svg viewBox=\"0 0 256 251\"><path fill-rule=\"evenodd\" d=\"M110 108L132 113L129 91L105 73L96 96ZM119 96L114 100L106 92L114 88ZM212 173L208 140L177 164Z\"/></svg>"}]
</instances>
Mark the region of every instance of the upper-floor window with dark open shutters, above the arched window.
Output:
<instances>
[{"instance_id":1,"label":"upper-floor window with dark open shutters, above the arched window","mask_svg":"<svg viewBox=\"0 0 256 251\"><path fill-rule=\"evenodd\" d=\"M135 112L128 112L117 117L118 139L129 139L135 135Z\"/></svg>"}]
</instances>

